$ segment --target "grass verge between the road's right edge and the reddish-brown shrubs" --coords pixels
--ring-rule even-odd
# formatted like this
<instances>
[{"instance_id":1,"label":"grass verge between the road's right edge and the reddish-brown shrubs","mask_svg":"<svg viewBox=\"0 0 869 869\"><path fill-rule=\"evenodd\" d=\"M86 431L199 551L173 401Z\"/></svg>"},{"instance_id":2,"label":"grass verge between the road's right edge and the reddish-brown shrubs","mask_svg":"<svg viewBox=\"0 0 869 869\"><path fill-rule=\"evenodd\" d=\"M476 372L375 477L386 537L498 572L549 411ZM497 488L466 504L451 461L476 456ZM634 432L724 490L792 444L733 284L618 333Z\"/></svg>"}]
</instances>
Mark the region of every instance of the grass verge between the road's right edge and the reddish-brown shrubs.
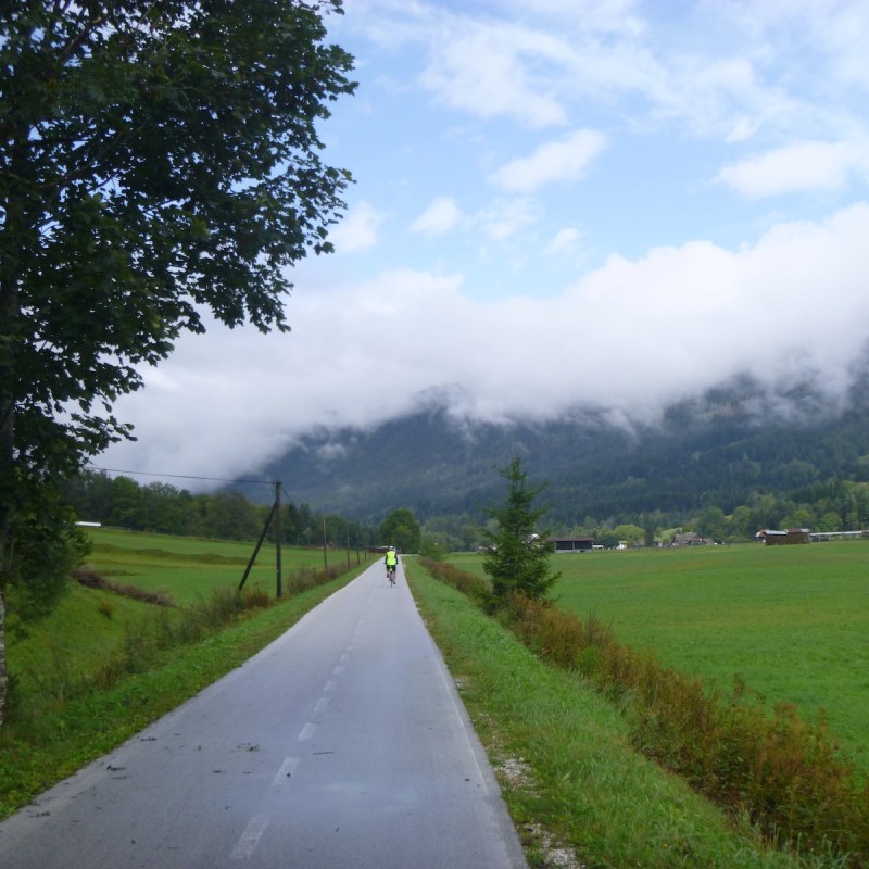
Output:
<instances>
[{"instance_id":1,"label":"grass verge between the road's right edge and the reddish-brown shrubs","mask_svg":"<svg viewBox=\"0 0 869 869\"><path fill-rule=\"evenodd\" d=\"M553 842L589 867L841 865L817 855L801 862L768 847L747 823L728 821L634 751L625 717L587 680L542 664L464 594L421 566L405 567L532 865L547 865Z\"/></svg>"}]
</instances>

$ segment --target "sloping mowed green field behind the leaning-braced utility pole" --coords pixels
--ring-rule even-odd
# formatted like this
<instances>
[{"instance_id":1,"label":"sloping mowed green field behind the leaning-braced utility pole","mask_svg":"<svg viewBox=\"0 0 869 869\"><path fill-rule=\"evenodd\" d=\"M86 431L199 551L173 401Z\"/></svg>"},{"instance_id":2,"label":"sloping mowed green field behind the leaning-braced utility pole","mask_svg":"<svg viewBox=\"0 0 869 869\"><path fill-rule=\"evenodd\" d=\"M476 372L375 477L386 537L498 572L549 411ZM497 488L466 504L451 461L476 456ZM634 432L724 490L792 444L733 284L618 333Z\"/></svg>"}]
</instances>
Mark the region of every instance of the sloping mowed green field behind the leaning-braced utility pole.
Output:
<instances>
[{"instance_id":1,"label":"sloping mowed green field behind the leaning-braced utility pole","mask_svg":"<svg viewBox=\"0 0 869 869\"><path fill-rule=\"evenodd\" d=\"M88 528L93 550L88 566L121 585L168 594L177 604L207 597L217 585L238 585L253 554L254 542L201 540L110 528ZM350 553L351 566L365 554ZM344 550L327 550L329 566L347 567ZM281 546L281 575L286 581L301 568L322 570L322 549ZM262 585L269 594L277 587L275 546L264 543L247 580L247 587Z\"/></svg>"}]
</instances>

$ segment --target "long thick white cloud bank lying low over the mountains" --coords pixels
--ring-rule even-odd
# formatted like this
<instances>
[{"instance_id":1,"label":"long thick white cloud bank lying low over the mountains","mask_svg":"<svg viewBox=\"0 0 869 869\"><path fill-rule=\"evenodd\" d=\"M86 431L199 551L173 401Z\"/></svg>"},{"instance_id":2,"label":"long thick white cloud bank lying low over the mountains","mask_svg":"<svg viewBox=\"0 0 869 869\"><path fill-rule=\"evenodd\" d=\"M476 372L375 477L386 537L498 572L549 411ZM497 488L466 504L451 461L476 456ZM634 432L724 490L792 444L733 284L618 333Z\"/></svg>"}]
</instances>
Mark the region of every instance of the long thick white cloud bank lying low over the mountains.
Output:
<instances>
[{"instance_id":1,"label":"long thick white cloud bank lying low over the mountains","mask_svg":"<svg viewBox=\"0 0 869 869\"><path fill-rule=\"evenodd\" d=\"M417 270L299 292L291 333L214 328L146 370L147 388L117 408L141 440L109 461L245 473L313 427L375 425L451 385L466 414L493 419L579 402L654 417L739 373L779 385L821 371L834 398L867 340L867 238L858 205L739 251L690 242L613 256L542 300L474 302L459 276Z\"/></svg>"}]
</instances>

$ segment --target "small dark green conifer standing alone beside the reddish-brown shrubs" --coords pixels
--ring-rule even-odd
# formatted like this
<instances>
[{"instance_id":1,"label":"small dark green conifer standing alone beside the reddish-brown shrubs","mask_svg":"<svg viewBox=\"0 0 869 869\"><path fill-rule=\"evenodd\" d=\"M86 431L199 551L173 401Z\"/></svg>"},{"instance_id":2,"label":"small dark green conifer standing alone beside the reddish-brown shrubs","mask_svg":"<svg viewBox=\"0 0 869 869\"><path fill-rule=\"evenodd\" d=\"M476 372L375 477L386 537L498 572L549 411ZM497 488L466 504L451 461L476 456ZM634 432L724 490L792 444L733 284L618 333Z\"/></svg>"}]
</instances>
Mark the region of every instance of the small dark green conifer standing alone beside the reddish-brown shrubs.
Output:
<instances>
[{"instance_id":1,"label":"small dark green conifer standing alone beside the reddish-brown shrubs","mask_svg":"<svg viewBox=\"0 0 869 869\"><path fill-rule=\"evenodd\" d=\"M534 600L545 597L559 576L550 565L553 550L546 542L549 531L537 527L547 512L546 507L534 506L545 484L528 482L518 456L499 468L499 473L507 481L507 493L503 504L486 511L494 520L494 529L486 532L489 550L483 570L499 601L513 594Z\"/></svg>"}]
</instances>

